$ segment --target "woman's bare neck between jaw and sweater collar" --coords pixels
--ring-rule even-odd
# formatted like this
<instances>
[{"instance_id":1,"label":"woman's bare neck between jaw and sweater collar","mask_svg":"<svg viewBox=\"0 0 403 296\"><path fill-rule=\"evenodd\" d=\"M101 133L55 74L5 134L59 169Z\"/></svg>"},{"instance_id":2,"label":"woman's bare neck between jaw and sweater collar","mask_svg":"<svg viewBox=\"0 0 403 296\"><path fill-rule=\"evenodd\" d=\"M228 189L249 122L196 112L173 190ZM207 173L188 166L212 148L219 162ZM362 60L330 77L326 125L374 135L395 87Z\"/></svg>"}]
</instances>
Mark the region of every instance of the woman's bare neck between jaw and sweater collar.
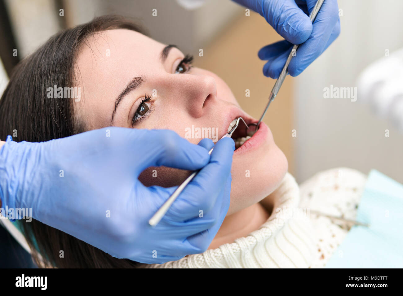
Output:
<instances>
[{"instance_id":1,"label":"woman's bare neck between jaw and sweater collar","mask_svg":"<svg viewBox=\"0 0 403 296\"><path fill-rule=\"evenodd\" d=\"M222 244L231 243L237 238L247 236L252 231L259 229L269 216L269 212L260 203L256 203L225 217L209 249L218 248Z\"/></svg>"}]
</instances>

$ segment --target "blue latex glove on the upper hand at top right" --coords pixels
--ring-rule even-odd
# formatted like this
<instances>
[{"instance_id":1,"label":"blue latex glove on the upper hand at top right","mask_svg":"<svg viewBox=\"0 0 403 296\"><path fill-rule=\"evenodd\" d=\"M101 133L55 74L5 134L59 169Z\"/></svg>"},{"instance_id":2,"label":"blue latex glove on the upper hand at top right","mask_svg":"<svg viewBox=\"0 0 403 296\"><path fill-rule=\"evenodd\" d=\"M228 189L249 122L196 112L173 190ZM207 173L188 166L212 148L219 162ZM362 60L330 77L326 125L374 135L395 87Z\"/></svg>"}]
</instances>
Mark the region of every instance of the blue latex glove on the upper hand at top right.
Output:
<instances>
[{"instance_id":1,"label":"blue latex glove on the upper hand at top right","mask_svg":"<svg viewBox=\"0 0 403 296\"><path fill-rule=\"evenodd\" d=\"M285 40L260 49L258 56L268 60L263 74L277 79L294 44L301 44L291 59L288 72L301 74L340 34L337 0L325 0L312 25L308 15L317 0L233 0L258 12Z\"/></svg>"}]
</instances>

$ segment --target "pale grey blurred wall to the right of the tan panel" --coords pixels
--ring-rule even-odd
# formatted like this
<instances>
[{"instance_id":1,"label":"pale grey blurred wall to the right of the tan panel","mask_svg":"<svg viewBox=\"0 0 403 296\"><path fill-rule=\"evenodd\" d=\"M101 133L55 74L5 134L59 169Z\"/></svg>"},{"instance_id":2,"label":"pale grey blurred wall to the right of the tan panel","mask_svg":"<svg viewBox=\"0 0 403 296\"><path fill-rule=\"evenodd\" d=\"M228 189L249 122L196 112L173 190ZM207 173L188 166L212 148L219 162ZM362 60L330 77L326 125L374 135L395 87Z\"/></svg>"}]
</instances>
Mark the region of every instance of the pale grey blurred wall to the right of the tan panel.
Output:
<instances>
[{"instance_id":1,"label":"pale grey blurred wall to the right of the tan panel","mask_svg":"<svg viewBox=\"0 0 403 296\"><path fill-rule=\"evenodd\" d=\"M296 174L303 180L336 166L364 173L376 168L403 182L403 132L391 120L377 117L359 95L355 102L323 98L324 87L357 87L357 77L368 64L390 58L385 56L386 49L392 55L403 48L399 17L403 1L338 3L343 14L339 38L294 79ZM385 137L385 130L389 130L389 137Z\"/></svg>"}]
</instances>

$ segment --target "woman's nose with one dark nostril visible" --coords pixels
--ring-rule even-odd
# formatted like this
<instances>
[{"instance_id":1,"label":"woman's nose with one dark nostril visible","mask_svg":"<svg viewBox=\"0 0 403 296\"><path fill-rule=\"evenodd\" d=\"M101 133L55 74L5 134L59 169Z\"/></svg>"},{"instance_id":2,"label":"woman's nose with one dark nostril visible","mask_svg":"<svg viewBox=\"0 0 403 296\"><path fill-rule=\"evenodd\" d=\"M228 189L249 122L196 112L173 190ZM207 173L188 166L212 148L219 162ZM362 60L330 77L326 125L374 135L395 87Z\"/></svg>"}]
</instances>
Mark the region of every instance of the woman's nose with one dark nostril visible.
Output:
<instances>
[{"instance_id":1,"label":"woman's nose with one dark nostril visible","mask_svg":"<svg viewBox=\"0 0 403 296\"><path fill-rule=\"evenodd\" d=\"M174 84L177 99L185 104L191 116L199 118L208 111L208 106L216 101L217 87L214 77L209 75L176 74Z\"/></svg>"}]
</instances>

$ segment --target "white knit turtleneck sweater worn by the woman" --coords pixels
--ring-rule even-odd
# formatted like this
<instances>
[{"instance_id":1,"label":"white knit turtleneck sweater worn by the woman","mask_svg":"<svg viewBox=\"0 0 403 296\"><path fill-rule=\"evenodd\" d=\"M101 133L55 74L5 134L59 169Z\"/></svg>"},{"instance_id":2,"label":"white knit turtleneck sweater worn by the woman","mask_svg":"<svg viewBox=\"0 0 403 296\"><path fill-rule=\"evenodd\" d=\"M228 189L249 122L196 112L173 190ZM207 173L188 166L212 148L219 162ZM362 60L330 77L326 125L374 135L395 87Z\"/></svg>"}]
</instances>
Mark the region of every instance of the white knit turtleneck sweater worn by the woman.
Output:
<instances>
[{"instance_id":1,"label":"white knit turtleneck sweater worn by the woman","mask_svg":"<svg viewBox=\"0 0 403 296\"><path fill-rule=\"evenodd\" d=\"M309 213L307 209L354 219L365 182L364 174L337 168L316 174L299 188L294 177L287 173L276 189L272 214L258 230L202 254L141 267L323 267L347 234L349 226Z\"/></svg>"}]
</instances>

